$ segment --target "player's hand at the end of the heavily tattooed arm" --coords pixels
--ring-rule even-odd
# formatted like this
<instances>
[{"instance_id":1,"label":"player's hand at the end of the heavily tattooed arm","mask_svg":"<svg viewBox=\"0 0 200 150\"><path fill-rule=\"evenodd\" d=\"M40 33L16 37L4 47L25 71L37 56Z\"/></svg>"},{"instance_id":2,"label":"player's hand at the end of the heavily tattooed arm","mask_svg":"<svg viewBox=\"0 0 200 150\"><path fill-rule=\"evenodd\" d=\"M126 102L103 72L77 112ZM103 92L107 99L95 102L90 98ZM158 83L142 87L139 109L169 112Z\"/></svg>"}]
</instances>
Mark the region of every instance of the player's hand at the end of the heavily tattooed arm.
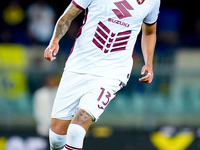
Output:
<instances>
[{"instance_id":1,"label":"player's hand at the end of the heavily tattooed arm","mask_svg":"<svg viewBox=\"0 0 200 150\"><path fill-rule=\"evenodd\" d=\"M54 61L56 59L56 54L59 50L59 44L57 40L52 40L49 46L44 51L44 58L49 61Z\"/></svg>"}]
</instances>

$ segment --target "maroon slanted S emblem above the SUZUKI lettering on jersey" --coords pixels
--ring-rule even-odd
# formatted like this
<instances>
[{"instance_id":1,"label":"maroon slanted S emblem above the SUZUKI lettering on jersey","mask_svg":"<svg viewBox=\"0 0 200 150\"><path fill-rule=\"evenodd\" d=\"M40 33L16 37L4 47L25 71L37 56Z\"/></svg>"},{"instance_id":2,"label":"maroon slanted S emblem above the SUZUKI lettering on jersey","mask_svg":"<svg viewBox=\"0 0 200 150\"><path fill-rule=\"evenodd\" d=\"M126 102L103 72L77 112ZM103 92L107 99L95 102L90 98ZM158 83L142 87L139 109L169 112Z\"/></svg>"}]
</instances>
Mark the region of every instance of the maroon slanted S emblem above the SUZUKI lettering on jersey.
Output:
<instances>
[{"instance_id":1,"label":"maroon slanted S emblem above the SUZUKI lettering on jersey","mask_svg":"<svg viewBox=\"0 0 200 150\"><path fill-rule=\"evenodd\" d=\"M137 1L140 2L141 0L137 0ZM130 14L129 10L134 10L134 9L126 0L115 2L114 4L117 6L118 9L112 9L112 11L115 13L115 15L119 19L123 19L123 18L132 16Z\"/></svg>"}]
</instances>

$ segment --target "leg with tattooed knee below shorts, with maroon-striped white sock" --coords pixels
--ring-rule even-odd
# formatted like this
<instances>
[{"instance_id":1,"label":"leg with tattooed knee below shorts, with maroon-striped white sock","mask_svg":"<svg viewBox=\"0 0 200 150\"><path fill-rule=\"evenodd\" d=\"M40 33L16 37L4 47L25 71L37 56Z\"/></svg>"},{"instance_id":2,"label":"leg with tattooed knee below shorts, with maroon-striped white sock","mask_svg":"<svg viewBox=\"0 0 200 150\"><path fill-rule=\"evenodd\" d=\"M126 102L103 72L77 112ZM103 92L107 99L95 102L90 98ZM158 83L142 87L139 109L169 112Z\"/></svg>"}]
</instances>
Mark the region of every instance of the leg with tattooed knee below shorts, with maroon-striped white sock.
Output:
<instances>
[{"instance_id":1,"label":"leg with tattooed knee below shorts, with maroon-striped white sock","mask_svg":"<svg viewBox=\"0 0 200 150\"><path fill-rule=\"evenodd\" d=\"M87 111L79 109L68 127L65 149L81 150L92 122L93 117Z\"/></svg>"}]
</instances>

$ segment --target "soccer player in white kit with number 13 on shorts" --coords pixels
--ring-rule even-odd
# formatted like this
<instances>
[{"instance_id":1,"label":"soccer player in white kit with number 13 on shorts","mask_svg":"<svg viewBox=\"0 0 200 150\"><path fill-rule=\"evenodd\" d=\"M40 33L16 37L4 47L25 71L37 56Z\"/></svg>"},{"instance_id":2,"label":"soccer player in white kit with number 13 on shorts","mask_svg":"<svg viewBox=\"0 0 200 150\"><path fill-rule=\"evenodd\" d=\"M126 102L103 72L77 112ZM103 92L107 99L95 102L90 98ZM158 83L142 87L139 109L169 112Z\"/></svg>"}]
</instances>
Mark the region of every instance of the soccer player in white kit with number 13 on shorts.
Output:
<instances>
[{"instance_id":1,"label":"soccer player in white kit with number 13 on shorts","mask_svg":"<svg viewBox=\"0 0 200 150\"><path fill-rule=\"evenodd\" d=\"M152 82L159 7L160 0L72 0L44 52L47 60L55 60L72 20L86 10L52 110L52 150L82 149L89 127L129 80L141 28L145 65L139 80Z\"/></svg>"}]
</instances>

